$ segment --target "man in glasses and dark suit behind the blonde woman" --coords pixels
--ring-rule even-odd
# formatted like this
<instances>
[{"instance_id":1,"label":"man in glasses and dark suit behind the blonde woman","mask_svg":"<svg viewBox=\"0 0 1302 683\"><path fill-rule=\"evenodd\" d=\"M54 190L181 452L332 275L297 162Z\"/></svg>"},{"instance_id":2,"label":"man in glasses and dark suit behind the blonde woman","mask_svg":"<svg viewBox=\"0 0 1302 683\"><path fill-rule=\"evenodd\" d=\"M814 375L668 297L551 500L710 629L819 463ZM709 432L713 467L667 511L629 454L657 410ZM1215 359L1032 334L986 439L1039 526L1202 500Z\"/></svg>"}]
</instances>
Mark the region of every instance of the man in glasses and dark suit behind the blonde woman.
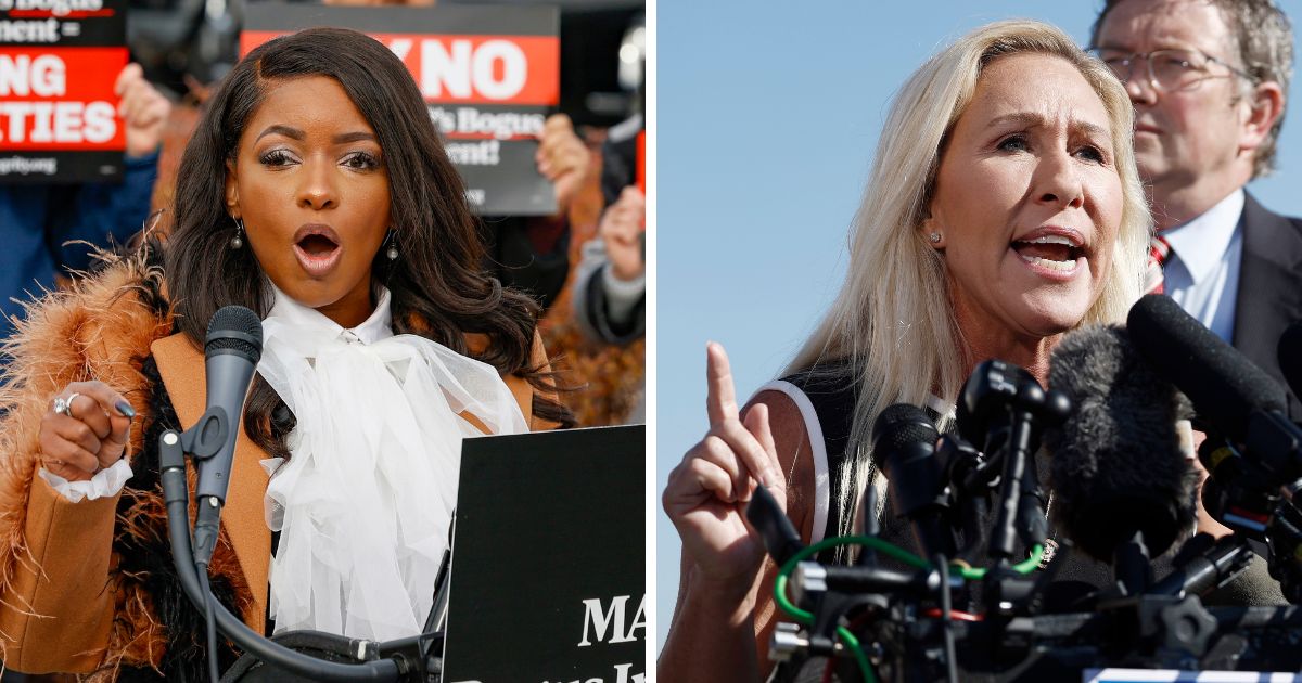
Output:
<instances>
[{"instance_id":1,"label":"man in glasses and dark suit behind the blonde woman","mask_svg":"<svg viewBox=\"0 0 1302 683\"><path fill-rule=\"evenodd\" d=\"M1302 320L1302 221L1243 186L1273 168L1288 18L1272 0L1107 0L1091 42L1135 107L1135 161L1164 261L1154 281L1285 385L1276 346Z\"/></svg>"}]
</instances>

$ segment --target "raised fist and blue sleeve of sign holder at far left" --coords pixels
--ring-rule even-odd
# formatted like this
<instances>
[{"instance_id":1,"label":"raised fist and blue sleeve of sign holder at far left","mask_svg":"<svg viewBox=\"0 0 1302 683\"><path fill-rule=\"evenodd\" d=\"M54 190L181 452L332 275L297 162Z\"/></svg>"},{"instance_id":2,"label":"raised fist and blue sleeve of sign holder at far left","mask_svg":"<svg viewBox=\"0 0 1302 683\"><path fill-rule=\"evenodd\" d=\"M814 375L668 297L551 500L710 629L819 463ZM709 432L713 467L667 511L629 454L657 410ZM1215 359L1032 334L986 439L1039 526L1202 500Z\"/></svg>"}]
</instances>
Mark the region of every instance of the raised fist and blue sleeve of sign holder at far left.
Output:
<instances>
[{"instance_id":1,"label":"raised fist and blue sleeve of sign holder at far left","mask_svg":"<svg viewBox=\"0 0 1302 683\"><path fill-rule=\"evenodd\" d=\"M29 293L91 267L95 247L125 243L150 213L159 144L172 104L145 81L138 64L117 75L113 92L126 133L121 183L0 185L0 338L13 332Z\"/></svg>"}]
</instances>

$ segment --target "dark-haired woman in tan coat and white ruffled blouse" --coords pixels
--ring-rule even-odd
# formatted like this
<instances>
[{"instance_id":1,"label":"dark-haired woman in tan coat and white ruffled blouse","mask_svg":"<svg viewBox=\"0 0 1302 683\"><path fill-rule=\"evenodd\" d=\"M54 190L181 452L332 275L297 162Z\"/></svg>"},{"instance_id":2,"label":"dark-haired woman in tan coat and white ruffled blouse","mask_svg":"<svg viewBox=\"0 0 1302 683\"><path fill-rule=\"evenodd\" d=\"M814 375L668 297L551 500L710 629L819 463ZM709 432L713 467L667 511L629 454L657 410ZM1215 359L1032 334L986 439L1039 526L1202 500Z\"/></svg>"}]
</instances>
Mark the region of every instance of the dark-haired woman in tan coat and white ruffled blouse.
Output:
<instances>
[{"instance_id":1,"label":"dark-haired woman in tan coat and white ruffled blouse","mask_svg":"<svg viewBox=\"0 0 1302 683\"><path fill-rule=\"evenodd\" d=\"M418 634L461 438L572 420L538 307L479 269L474 217L410 73L342 29L258 47L206 104L173 216L165 246L147 241L47 298L12 347L4 661L204 678L158 438L203 411L204 328L232 303L264 317L264 342L214 593L268 634ZM216 656L225 667L234 653Z\"/></svg>"}]
</instances>

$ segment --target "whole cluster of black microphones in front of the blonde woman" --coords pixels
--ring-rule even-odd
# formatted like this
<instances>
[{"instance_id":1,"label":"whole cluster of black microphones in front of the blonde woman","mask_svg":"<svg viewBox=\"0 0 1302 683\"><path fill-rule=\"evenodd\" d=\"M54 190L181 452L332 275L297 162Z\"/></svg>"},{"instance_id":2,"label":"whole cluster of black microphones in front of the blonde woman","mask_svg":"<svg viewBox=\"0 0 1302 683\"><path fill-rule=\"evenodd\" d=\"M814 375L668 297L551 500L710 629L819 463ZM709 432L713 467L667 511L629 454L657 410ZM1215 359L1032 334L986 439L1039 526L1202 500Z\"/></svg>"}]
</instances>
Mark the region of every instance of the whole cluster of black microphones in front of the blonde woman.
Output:
<instances>
[{"instance_id":1,"label":"whole cluster of black microphones in front of the blonde woman","mask_svg":"<svg viewBox=\"0 0 1302 683\"><path fill-rule=\"evenodd\" d=\"M1302 394L1302 321L1281 337L1279 360L1294 395ZM827 624L862 623L863 611L872 609L896 628L880 640L898 645L922 637L927 623L921 615L937 611L934 605L943 601L945 617L934 621L944 623L934 626L944 630L944 649L932 658L949 660L954 678L950 621L957 617L949 593L966 600L960 602L971 610L965 619L978 622L987 636L997 631L991 637L1006 643L1019 617L1052 611L1044 596L1068 553L1051 559L1043 552L1057 545L1047 539L1057 537L1108 565L1112 576L1088 598L1055 609L1111 610L1113 630L1133 623L1135 640L1156 639L1148 652L1207 654L1219 626L1198 596L1230 584L1254 553L1284 597L1302 604L1302 511L1293 501L1302 492L1302 428L1288 410L1288 390L1279 381L1160 295L1141 299L1125 327L1064 336L1047 389L1023 368L987 360L963 385L945 433L937 431L935 412L904 403L884 410L874 424L871 457L887 479L885 515L907 522L911 550L931 561L911 579L880 562L880 545L863 541L846 540L863 546L850 567L810 559L797 565L803 544L768 506L771 497L755 497L747 518L780 566L796 565L790 591L814 613L798 640L793 627L780 628L775 649L844 654L846 645ZM1194 457L1210 475L1206 481ZM1211 518L1233 533L1219 540L1194 535L1199 493ZM875 498L868 485L859 503L861 539L879 537ZM1170 571L1154 576L1152 559L1173 548L1163 565ZM1029 556L1046 571L1035 571ZM940 565L948 571L937 579ZM953 578L961 569L966 580ZM868 593L876 597L865 602ZM901 611L901 604L913 608ZM829 614L829 605L842 611ZM846 605L858 605L859 613ZM1302 618L1293 611L1282 621L1276 615L1276 626L1302 637ZM1019 637L1034 640L1069 621L1042 619ZM1081 615L1073 628L1086 632L1087 622ZM827 637L816 632L819 624ZM997 649L999 643L988 645Z\"/></svg>"}]
</instances>

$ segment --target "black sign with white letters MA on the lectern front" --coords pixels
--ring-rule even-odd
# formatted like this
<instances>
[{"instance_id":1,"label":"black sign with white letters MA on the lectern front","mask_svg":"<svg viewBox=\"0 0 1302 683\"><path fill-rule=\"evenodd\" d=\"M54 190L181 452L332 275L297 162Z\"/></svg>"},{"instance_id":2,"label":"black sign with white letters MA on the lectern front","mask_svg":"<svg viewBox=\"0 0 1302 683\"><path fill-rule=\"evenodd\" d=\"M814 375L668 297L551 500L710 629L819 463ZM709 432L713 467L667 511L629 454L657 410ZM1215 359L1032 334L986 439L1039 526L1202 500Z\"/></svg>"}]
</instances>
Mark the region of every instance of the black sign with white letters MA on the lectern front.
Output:
<instances>
[{"instance_id":1,"label":"black sign with white letters MA on the lectern front","mask_svg":"<svg viewBox=\"0 0 1302 683\"><path fill-rule=\"evenodd\" d=\"M644 424L461 442L443 680L646 680L644 463Z\"/></svg>"}]
</instances>

